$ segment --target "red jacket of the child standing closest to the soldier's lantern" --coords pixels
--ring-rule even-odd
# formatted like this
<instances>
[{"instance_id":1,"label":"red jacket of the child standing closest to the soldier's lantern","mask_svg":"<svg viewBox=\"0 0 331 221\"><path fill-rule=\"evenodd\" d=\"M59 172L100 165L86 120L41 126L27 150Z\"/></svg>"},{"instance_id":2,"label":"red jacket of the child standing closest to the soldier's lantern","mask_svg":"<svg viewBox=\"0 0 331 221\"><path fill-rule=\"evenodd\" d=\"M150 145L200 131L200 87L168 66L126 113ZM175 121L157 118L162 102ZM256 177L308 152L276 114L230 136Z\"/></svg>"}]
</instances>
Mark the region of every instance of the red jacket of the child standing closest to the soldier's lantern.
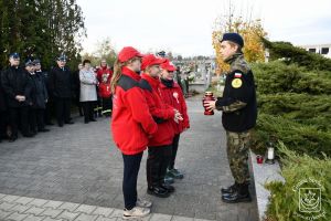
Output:
<instances>
[{"instance_id":1,"label":"red jacket of the child standing closest to the soldier's lantern","mask_svg":"<svg viewBox=\"0 0 331 221\"><path fill-rule=\"evenodd\" d=\"M174 134L181 134L185 128L190 128L190 118L188 115L188 107L185 103L185 98L183 96L183 92L178 83L173 82L171 87L166 86L163 83L160 84L161 95L163 101L172 106L173 108L178 109L182 116L183 120L177 124L172 122L172 126L174 128Z\"/></svg>"}]
</instances>

